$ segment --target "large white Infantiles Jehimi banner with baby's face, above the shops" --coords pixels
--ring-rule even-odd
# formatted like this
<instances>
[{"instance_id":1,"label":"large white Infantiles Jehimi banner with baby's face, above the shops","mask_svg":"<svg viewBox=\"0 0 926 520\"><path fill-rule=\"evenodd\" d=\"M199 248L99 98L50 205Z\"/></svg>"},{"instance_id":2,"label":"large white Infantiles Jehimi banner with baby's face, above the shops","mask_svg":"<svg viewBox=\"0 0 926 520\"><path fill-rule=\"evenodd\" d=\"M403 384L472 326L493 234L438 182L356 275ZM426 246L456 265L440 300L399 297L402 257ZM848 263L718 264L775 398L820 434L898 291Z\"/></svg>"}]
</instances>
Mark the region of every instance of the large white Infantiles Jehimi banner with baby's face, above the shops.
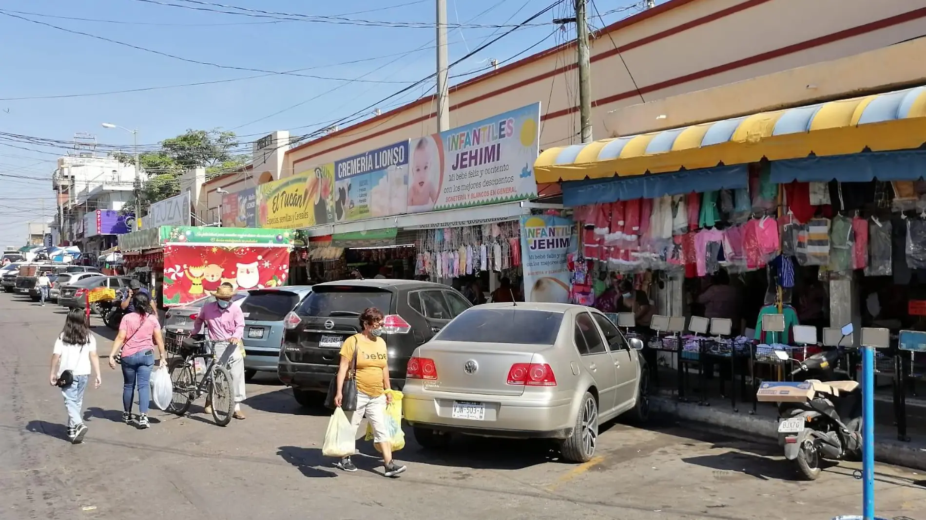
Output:
<instances>
[{"instance_id":1,"label":"large white Infantiles Jehimi banner with baby's face, above the shops","mask_svg":"<svg viewBox=\"0 0 926 520\"><path fill-rule=\"evenodd\" d=\"M408 213L497 204L537 195L540 104L412 140Z\"/></svg>"}]
</instances>

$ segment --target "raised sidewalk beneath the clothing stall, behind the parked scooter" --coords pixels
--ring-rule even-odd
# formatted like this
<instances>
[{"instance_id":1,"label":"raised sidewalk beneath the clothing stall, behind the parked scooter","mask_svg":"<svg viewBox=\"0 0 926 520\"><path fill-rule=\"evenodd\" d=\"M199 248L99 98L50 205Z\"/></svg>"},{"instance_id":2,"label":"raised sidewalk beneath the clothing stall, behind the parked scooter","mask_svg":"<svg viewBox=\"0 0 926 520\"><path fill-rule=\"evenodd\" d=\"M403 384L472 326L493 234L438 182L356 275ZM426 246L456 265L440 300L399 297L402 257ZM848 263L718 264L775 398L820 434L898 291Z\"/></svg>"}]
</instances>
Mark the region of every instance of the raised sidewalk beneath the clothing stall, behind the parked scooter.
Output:
<instances>
[{"instance_id":1,"label":"raised sidewalk beneath the clothing stall, behind the parked scooter","mask_svg":"<svg viewBox=\"0 0 926 520\"><path fill-rule=\"evenodd\" d=\"M657 390L650 398L650 409L653 415L716 433L734 436L738 433L750 440L756 437L778 440L778 414L771 403L759 402L755 415L750 414L752 402L738 402L738 412L734 412L730 401L720 395L712 395L710 403L701 406L696 402L680 402L671 390ZM926 403L907 400L910 441L902 442L897 440L890 398L885 400L879 396L875 402L875 460L926 470L926 406L923 404Z\"/></svg>"}]
</instances>

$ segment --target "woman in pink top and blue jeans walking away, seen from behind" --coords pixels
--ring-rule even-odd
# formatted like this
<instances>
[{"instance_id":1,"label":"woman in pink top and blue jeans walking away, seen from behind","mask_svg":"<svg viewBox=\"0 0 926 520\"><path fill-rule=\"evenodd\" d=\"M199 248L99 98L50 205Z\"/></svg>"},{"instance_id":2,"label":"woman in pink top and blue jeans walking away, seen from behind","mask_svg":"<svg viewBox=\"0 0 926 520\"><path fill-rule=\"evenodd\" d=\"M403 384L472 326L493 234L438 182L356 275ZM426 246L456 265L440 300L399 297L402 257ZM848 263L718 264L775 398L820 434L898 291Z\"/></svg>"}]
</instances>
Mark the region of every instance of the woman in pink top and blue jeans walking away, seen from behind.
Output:
<instances>
[{"instance_id":1,"label":"woman in pink top and blue jeans walking away, seen from behind","mask_svg":"<svg viewBox=\"0 0 926 520\"><path fill-rule=\"evenodd\" d=\"M148 402L151 401L151 367L155 365L154 344L160 355L161 368L168 365L168 354L164 350L161 325L151 308L151 299L144 292L138 292L131 299L134 312L122 318L119 334L113 341L109 353L109 367L122 365L122 420L131 425L131 402L134 401L135 386L138 386L138 427L148 424ZM116 360L119 353L120 360Z\"/></svg>"}]
</instances>

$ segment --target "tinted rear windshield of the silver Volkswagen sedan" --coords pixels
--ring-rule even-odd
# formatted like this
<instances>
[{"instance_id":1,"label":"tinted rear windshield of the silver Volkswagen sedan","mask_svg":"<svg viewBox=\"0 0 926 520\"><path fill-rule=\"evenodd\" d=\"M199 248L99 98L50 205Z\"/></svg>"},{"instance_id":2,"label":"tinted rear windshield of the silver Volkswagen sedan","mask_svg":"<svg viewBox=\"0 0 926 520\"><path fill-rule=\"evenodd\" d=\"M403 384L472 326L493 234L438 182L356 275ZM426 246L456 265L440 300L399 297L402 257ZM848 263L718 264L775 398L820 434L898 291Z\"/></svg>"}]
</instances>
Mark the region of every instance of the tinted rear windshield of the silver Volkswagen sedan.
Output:
<instances>
[{"instance_id":1,"label":"tinted rear windshield of the silver Volkswagen sedan","mask_svg":"<svg viewBox=\"0 0 926 520\"><path fill-rule=\"evenodd\" d=\"M471 307L441 329L434 340L552 345L562 321L562 313Z\"/></svg>"}]
</instances>

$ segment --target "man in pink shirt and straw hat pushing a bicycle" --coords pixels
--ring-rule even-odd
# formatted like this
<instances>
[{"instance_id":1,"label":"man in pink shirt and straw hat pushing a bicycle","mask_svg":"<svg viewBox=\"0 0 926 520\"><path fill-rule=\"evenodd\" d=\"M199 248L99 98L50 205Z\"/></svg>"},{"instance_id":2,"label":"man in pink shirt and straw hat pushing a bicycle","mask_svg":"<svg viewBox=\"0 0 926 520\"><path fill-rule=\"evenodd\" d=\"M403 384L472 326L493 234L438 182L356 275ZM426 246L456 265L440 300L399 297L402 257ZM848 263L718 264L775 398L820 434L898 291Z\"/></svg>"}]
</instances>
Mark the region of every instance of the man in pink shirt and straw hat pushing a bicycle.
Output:
<instances>
[{"instance_id":1,"label":"man in pink shirt and straw hat pushing a bicycle","mask_svg":"<svg viewBox=\"0 0 926 520\"><path fill-rule=\"evenodd\" d=\"M196 316L193 325L193 334L199 334L203 325L209 340L216 343L216 355L219 363L228 363L232 373L232 387L234 387L234 414L236 419L244 419L241 411L241 402L244 401L244 313L241 307L232 304L234 288L231 283L225 282L216 291L216 301L206 303ZM206 414L212 413L212 403L206 402Z\"/></svg>"}]
</instances>

